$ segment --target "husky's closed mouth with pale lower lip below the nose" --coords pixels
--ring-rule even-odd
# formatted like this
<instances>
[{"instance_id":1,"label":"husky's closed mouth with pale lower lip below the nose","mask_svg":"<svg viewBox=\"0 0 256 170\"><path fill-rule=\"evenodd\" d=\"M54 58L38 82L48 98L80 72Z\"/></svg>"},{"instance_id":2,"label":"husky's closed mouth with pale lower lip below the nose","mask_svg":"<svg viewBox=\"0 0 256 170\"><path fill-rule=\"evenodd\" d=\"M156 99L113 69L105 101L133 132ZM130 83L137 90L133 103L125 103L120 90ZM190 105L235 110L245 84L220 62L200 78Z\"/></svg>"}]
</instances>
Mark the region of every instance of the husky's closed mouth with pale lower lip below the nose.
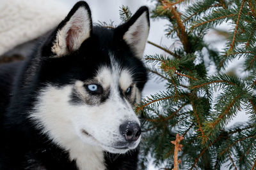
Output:
<instances>
[{"instance_id":1,"label":"husky's closed mouth with pale lower lip below the nose","mask_svg":"<svg viewBox=\"0 0 256 170\"><path fill-rule=\"evenodd\" d=\"M92 134L89 134L86 130L82 129L82 133L85 136L88 136L90 138L92 138L93 140L97 141L98 143L100 143L100 145L103 146L103 148L106 148L109 152L113 152L113 153L125 153L127 152L127 150L130 149L134 149L134 146L129 147L129 145L125 145L125 143L122 143L122 146L109 146L109 145L104 145L104 143L101 143L100 141L98 141L97 139L95 139Z\"/></svg>"}]
</instances>

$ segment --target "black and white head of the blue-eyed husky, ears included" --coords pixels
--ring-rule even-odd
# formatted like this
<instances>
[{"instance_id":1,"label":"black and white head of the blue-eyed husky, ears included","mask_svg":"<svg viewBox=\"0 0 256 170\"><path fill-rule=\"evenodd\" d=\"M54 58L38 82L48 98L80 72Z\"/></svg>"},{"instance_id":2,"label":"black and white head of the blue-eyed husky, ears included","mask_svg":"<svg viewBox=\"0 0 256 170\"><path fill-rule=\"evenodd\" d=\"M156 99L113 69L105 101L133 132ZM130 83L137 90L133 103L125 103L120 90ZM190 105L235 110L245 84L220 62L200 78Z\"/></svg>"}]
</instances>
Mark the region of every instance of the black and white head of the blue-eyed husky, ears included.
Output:
<instances>
[{"instance_id":1,"label":"black and white head of the blue-eyed husky, ears included","mask_svg":"<svg viewBox=\"0 0 256 170\"><path fill-rule=\"evenodd\" d=\"M147 81L141 59L148 31L145 6L107 28L93 27L88 4L77 3L43 45L42 87L31 118L67 149L73 143L112 153L136 148L141 129L132 106Z\"/></svg>"}]
</instances>

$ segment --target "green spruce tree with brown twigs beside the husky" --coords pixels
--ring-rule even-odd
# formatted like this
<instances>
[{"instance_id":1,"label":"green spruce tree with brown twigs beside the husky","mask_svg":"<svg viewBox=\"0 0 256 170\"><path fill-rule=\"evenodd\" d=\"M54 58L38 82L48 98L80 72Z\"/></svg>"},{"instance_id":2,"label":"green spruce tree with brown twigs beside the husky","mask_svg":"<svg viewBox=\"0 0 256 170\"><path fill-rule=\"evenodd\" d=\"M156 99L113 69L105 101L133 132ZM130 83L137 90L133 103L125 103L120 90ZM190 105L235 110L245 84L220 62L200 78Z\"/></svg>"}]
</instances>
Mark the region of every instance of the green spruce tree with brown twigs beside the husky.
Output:
<instances>
[{"instance_id":1,"label":"green spruce tree with brown twigs beside the husky","mask_svg":"<svg viewBox=\"0 0 256 170\"><path fill-rule=\"evenodd\" d=\"M156 166L164 163L163 169L172 169L176 134L184 137L179 140L182 169L220 169L223 164L230 169L256 169L255 11L255 0L157 1L151 16L168 20L166 36L179 39L181 46L169 50L148 41L168 55L145 56L156 66L149 68L151 75L165 80L166 90L136 107L145 138L141 169L147 167L148 155ZM120 14L122 20L131 16L124 6ZM231 30L220 53L204 37L223 22L231 23ZM216 66L216 74L207 74L210 64L204 55ZM237 57L245 59L241 63L248 72L245 78L221 72ZM250 120L227 128L241 110Z\"/></svg>"}]
</instances>

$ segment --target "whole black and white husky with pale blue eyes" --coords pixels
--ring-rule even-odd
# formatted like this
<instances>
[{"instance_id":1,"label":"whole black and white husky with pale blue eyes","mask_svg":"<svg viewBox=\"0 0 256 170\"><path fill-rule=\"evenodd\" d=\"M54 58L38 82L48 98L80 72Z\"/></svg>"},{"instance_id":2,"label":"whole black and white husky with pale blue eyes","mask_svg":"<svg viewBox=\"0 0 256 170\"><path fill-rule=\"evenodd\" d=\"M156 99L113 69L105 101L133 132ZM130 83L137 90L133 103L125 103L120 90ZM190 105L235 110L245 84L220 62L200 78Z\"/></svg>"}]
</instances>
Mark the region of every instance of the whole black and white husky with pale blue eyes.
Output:
<instances>
[{"instance_id":1,"label":"whole black and white husky with pale blue eyes","mask_svg":"<svg viewBox=\"0 0 256 170\"><path fill-rule=\"evenodd\" d=\"M79 1L24 62L0 66L0 169L136 169L148 37L143 6L115 29Z\"/></svg>"}]
</instances>

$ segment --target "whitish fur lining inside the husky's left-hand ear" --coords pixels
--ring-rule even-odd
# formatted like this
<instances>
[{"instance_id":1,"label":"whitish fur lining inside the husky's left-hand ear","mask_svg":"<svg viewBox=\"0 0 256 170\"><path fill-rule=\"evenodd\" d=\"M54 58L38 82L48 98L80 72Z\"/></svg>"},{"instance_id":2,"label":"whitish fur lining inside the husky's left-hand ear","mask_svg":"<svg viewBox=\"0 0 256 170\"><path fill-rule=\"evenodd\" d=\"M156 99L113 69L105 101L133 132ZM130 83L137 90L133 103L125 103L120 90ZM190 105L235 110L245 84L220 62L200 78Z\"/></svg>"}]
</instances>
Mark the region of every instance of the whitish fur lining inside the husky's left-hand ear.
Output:
<instances>
[{"instance_id":1,"label":"whitish fur lining inside the husky's left-hand ear","mask_svg":"<svg viewBox=\"0 0 256 170\"><path fill-rule=\"evenodd\" d=\"M52 52L58 57L67 55L71 50L77 50L83 41L90 36L90 16L88 11L82 6L72 15L67 24L65 24L58 32L56 41L52 46ZM70 31L68 34L68 31ZM67 46L67 41L69 46Z\"/></svg>"}]
</instances>

